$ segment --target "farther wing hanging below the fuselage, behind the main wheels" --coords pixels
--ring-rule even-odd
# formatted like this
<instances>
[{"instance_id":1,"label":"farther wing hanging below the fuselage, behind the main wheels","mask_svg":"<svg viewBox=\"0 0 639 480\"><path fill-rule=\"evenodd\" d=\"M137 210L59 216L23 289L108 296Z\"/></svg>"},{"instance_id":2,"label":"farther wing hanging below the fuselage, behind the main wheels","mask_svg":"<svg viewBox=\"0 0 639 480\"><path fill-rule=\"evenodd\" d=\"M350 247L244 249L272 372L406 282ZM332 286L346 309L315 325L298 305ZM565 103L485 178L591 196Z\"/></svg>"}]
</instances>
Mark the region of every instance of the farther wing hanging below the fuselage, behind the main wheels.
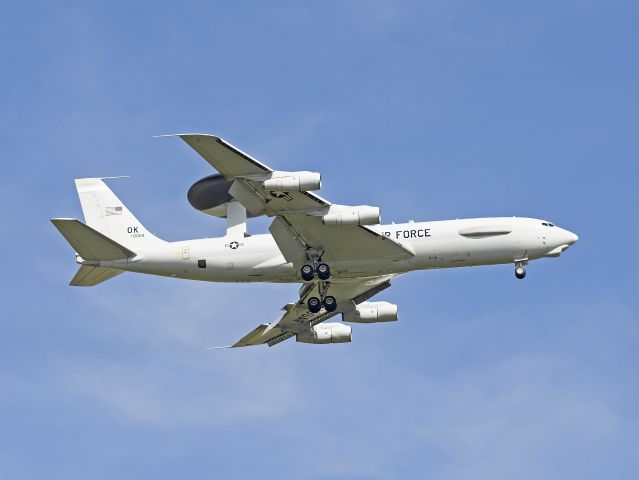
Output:
<instances>
[{"instance_id":1,"label":"farther wing hanging below the fuselage, behind the main wheels","mask_svg":"<svg viewBox=\"0 0 639 480\"><path fill-rule=\"evenodd\" d=\"M311 313L306 306L306 300L311 296L319 296L319 287L318 284L305 284L300 290L300 299L297 303L289 303L284 306L282 309L284 313L278 320L271 324L263 323L257 326L228 348L262 344L267 344L269 347L277 345L284 340L294 337L297 333L308 330L318 323L353 309L355 305L368 300L373 295L390 287L390 280L392 278L393 275L385 275L381 277L360 278L344 283L332 282L330 292L337 300L337 309L333 312L327 312L322 308L322 310L317 313Z\"/></svg>"}]
</instances>

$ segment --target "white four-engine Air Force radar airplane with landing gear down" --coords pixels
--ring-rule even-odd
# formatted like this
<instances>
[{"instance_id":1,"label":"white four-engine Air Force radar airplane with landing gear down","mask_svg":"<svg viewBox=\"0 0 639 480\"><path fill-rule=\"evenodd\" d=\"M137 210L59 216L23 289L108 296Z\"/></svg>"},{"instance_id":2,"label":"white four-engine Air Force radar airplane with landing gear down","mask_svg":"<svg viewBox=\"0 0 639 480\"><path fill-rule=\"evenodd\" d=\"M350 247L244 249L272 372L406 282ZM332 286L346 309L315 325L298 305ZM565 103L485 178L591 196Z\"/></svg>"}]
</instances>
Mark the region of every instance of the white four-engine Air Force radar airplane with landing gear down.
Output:
<instances>
[{"instance_id":1,"label":"white four-engine Air Force radar airplane with landing gear down","mask_svg":"<svg viewBox=\"0 0 639 480\"><path fill-rule=\"evenodd\" d=\"M219 173L195 182L196 209L226 218L226 235L167 242L149 232L102 178L75 180L85 223L51 222L76 251L73 286L94 286L122 272L209 282L301 283L299 298L228 347L295 337L309 344L352 340L346 323L390 322L398 307L369 301L398 275L436 268L513 264L558 257L578 237L547 220L470 218L381 224L378 207L338 205L316 193L316 172L277 171L220 137L177 134ZM247 218L273 217L267 234L250 235Z\"/></svg>"}]
</instances>

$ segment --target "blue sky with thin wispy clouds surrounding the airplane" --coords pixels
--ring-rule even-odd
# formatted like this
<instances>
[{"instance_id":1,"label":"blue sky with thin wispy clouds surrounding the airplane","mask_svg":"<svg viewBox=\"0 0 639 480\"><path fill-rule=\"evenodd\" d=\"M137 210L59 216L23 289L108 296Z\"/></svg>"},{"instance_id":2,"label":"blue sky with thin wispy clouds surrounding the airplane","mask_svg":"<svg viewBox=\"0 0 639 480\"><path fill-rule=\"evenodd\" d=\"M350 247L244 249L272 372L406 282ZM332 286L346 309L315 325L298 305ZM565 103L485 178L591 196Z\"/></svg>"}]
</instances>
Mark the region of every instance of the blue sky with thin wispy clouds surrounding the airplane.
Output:
<instances>
[{"instance_id":1,"label":"blue sky with thin wispy clouds surrounding the airplane","mask_svg":"<svg viewBox=\"0 0 639 480\"><path fill-rule=\"evenodd\" d=\"M0 478L634 479L634 2L2 2ZM390 221L521 215L560 259L417 272L353 343L206 351L294 285L67 286L48 222L112 183L219 235L175 132L221 135ZM267 223L254 221L252 232Z\"/></svg>"}]
</instances>

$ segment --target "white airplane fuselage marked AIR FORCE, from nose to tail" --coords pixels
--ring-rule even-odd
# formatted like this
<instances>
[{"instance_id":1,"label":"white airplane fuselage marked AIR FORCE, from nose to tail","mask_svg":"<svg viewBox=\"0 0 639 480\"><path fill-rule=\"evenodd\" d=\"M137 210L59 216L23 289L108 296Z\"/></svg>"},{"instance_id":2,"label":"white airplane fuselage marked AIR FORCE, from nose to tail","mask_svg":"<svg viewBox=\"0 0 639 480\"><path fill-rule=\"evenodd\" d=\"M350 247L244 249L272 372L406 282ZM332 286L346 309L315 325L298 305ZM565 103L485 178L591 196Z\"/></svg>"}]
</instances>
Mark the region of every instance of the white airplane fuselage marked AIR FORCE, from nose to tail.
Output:
<instances>
[{"instance_id":1,"label":"white airplane fuselage marked AIR FORCE, from nose to tail","mask_svg":"<svg viewBox=\"0 0 639 480\"><path fill-rule=\"evenodd\" d=\"M357 228L357 227L353 227ZM544 220L474 218L376 225L370 228L412 250L409 259L379 258L331 264L332 281L413 270L525 263L559 256L577 236ZM270 234L219 237L145 246L129 260L85 262L117 270L210 282L301 281Z\"/></svg>"}]
</instances>

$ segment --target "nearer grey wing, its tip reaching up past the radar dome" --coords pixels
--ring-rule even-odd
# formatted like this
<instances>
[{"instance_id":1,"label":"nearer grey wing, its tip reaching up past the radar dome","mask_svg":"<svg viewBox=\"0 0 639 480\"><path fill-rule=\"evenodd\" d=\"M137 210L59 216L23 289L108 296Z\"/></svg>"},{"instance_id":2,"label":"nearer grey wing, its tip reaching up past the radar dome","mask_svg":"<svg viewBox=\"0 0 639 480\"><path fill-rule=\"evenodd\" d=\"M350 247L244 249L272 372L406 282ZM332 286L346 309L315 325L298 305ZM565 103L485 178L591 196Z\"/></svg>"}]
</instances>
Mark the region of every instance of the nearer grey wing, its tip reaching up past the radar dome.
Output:
<instances>
[{"instance_id":1,"label":"nearer grey wing, its tip reaching up past the radar dome","mask_svg":"<svg viewBox=\"0 0 639 480\"><path fill-rule=\"evenodd\" d=\"M321 215L331 203L312 192L264 188L262 179L274 170L225 140L204 134L180 134L179 137L227 180L233 181L229 193L249 212L278 217L270 230L287 261L303 261L311 249L321 252L322 260L328 262L401 260L414 255L410 246L369 226L325 225Z\"/></svg>"}]
</instances>

